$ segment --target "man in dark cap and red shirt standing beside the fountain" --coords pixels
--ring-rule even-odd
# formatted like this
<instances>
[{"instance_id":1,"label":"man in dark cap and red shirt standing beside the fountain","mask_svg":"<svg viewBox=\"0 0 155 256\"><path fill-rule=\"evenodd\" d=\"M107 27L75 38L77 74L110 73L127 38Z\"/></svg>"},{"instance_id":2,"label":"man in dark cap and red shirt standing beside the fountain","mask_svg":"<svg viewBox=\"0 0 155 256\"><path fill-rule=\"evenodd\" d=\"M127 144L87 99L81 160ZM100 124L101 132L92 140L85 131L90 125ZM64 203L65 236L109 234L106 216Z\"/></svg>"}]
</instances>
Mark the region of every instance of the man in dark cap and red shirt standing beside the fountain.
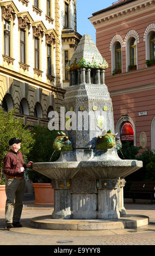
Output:
<instances>
[{"instance_id":1,"label":"man in dark cap and red shirt standing beside the fountain","mask_svg":"<svg viewBox=\"0 0 155 256\"><path fill-rule=\"evenodd\" d=\"M5 193L7 201L5 205L5 229L22 227L20 218L23 208L23 195L25 190L24 169L30 167L33 162L24 164L20 151L22 139L11 138L10 151L4 157L3 172L6 175Z\"/></svg>"}]
</instances>

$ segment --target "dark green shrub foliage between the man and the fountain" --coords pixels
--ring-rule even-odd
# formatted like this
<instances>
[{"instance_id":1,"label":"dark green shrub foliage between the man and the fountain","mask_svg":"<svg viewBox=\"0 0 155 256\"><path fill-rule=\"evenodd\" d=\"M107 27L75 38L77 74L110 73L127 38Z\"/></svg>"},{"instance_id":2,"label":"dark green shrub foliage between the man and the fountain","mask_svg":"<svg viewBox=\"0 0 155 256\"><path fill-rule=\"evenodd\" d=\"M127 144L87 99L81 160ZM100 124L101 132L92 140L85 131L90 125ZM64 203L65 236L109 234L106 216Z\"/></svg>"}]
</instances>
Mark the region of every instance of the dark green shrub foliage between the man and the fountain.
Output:
<instances>
[{"instance_id":1,"label":"dark green shrub foliage between the man and the fountain","mask_svg":"<svg viewBox=\"0 0 155 256\"><path fill-rule=\"evenodd\" d=\"M46 126L34 126L31 132L33 133L35 143L33 150L28 154L28 160L33 162L54 162L58 160L60 153L58 151L54 152L53 149L53 142L57 137L58 131L50 131ZM26 174L34 183L51 182L51 179L32 170L32 168L27 169Z\"/></svg>"}]
</instances>

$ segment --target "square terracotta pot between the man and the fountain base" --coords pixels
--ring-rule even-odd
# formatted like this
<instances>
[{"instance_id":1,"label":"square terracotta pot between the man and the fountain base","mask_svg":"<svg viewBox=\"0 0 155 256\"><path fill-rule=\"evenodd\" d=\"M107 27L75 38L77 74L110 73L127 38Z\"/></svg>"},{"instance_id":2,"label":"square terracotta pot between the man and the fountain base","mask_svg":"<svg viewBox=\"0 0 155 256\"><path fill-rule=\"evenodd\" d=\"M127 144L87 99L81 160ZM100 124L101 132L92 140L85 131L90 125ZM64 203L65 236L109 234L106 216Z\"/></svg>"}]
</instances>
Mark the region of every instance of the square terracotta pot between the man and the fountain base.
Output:
<instances>
[{"instance_id":1,"label":"square terracotta pot between the man and the fountain base","mask_svg":"<svg viewBox=\"0 0 155 256\"><path fill-rule=\"evenodd\" d=\"M33 183L35 204L54 205L54 190L50 183Z\"/></svg>"}]
</instances>

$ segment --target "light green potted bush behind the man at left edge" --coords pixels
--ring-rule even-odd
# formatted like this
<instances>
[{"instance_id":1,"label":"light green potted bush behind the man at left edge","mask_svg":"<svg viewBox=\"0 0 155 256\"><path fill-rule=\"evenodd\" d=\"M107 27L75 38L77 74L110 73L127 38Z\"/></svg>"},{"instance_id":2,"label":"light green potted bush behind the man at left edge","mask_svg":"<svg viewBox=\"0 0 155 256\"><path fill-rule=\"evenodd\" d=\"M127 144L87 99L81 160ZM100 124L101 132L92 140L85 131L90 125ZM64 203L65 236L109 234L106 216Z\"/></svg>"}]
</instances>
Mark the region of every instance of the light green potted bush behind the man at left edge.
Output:
<instances>
[{"instance_id":1,"label":"light green potted bush behind the man at left edge","mask_svg":"<svg viewBox=\"0 0 155 256\"><path fill-rule=\"evenodd\" d=\"M5 208L5 175L3 173L3 159L9 151L9 139L17 137L22 139L21 151L24 161L27 161L26 155L32 149L34 143L33 135L23 126L23 119L15 118L16 109L9 112L0 108L0 208Z\"/></svg>"}]
</instances>

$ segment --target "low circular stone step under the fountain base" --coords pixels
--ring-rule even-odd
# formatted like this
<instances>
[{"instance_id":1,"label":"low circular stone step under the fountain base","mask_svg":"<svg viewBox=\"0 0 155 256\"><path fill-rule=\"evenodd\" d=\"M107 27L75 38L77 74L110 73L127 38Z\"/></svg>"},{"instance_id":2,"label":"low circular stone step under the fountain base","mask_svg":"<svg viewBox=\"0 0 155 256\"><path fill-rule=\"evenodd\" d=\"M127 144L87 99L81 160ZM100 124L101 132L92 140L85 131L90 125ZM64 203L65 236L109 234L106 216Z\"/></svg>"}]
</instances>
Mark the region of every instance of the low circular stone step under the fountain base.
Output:
<instances>
[{"instance_id":1,"label":"low circular stone step under the fountain base","mask_svg":"<svg viewBox=\"0 0 155 256\"><path fill-rule=\"evenodd\" d=\"M148 225L149 217L144 215L124 215L117 220L56 220L51 215L30 220L31 227L53 230L104 230L134 228Z\"/></svg>"}]
</instances>

